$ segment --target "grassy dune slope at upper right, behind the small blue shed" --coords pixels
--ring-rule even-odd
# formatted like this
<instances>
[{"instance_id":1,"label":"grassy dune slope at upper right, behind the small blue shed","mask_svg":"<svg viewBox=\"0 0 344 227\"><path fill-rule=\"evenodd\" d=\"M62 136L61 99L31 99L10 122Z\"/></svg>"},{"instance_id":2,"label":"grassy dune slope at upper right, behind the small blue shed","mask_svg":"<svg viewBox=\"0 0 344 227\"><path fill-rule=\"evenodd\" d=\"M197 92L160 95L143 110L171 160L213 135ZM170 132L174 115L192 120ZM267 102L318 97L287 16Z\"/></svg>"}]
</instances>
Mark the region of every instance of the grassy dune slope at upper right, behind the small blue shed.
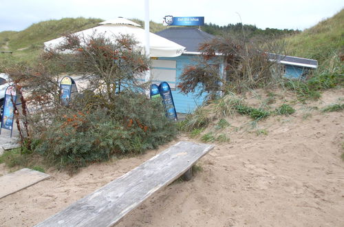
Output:
<instances>
[{"instance_id":1,"label":"grassy dune slope at upper right, behind the small blue shed","mask_svg":"<svg viewBox=\"0 0 344 227\"><path fill-rule=\"evenodd\" d=\"M344 54L344 9L314 27L286 39L289 54L319 61L319 65Z\"/></svg>"}]
</instances>

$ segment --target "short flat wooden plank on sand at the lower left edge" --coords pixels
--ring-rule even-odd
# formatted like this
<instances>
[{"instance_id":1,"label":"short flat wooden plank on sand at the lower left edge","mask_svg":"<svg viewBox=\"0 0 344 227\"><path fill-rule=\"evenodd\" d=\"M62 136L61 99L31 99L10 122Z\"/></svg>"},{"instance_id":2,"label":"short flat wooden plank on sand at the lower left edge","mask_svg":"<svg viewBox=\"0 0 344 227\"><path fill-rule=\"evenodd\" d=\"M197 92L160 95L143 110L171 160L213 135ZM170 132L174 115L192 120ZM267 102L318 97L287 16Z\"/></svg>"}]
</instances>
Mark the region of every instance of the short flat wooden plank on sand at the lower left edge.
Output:
<instances>
[{"instance_id":1,"label":"short flat wooden plank on sand at the lower left edge","mask_svg":"<svg viewBox=\"0 0 344 227\"><path fill-rule=\"evenodd\" d=\"M50 175L32 169L20 169L0 177L0 199L12 193L17 193L28 186L45 180Z\"/></svg>"}]
</instances>

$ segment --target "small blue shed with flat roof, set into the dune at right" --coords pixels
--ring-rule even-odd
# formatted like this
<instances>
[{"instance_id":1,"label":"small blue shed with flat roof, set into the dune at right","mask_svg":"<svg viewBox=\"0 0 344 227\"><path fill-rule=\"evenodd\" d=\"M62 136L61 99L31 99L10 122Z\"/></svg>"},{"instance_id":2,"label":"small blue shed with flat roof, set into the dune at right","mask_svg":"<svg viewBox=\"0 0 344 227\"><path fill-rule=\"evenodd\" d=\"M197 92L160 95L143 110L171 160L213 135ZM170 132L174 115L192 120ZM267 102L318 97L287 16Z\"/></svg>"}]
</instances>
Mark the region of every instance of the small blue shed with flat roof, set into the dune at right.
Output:
<instances>
[{"instance_id":1,"label":"small blue shed with flat roof, set into the dune at right","mask_svg":"<svg viewBox=\"0 0 344 227\"><path fill-rule=\"evenodd\" d=\"M305 79L308 72L318 67L318 61L308 58L298 58L281 54L268 54L270 61L276 61L283 66L284 76L290 79Z\"/></svg>"}]
</instances>

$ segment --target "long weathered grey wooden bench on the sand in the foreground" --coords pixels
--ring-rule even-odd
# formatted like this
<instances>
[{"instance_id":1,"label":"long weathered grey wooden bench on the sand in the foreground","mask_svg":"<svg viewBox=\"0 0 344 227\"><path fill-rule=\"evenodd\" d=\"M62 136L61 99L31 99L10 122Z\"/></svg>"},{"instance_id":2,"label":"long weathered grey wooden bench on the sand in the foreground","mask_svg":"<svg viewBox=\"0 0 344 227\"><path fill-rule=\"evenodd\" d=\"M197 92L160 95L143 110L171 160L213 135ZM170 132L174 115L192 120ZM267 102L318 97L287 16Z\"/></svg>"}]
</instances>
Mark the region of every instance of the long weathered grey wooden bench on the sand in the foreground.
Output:
<instances>
[{"instance_id":1,"label":"long weathered grey wooden bench on the sand in the foreground","mask_svg":"<svg viewBox=\"0 0 344 227\"><path fill-rule=\"evenodd\" d=\"M193 164L213 147L178 142L36 226L112 226L181 175L190 178Z\"/></svg>"}]
</instances>

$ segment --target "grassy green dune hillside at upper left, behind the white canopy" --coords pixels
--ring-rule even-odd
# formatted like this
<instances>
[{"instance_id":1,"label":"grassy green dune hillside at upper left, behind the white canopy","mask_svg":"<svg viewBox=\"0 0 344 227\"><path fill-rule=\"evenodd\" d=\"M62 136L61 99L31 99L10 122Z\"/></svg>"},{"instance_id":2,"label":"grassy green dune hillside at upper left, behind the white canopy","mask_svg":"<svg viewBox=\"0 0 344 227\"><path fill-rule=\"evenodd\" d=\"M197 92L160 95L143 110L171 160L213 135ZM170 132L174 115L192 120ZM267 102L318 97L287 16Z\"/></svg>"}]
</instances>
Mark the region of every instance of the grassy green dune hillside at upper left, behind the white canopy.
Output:
<instances>
[{"instance_id":1,"label":"grassy green dune hillside at upper left, behind the white canopy","mask_svg":"<svg viewBox=\"0 0 344 227\"><path fill-rule=\"evenodd\" d=\"M143 21L132 19L140 25ZM78 32L87 28L93 28L103 19L64 18L60 20L42 21L34 23L29 28L20 32L4 31L0 32L0 50L12 51L13 54L0 54L0 66L14 62L25 61L32 64L43 50L43 43L51 39L56 39L69 32ZM158 32L164 29L160 23L151 21L151 32Z\"/></svg>"}]
</instances>

